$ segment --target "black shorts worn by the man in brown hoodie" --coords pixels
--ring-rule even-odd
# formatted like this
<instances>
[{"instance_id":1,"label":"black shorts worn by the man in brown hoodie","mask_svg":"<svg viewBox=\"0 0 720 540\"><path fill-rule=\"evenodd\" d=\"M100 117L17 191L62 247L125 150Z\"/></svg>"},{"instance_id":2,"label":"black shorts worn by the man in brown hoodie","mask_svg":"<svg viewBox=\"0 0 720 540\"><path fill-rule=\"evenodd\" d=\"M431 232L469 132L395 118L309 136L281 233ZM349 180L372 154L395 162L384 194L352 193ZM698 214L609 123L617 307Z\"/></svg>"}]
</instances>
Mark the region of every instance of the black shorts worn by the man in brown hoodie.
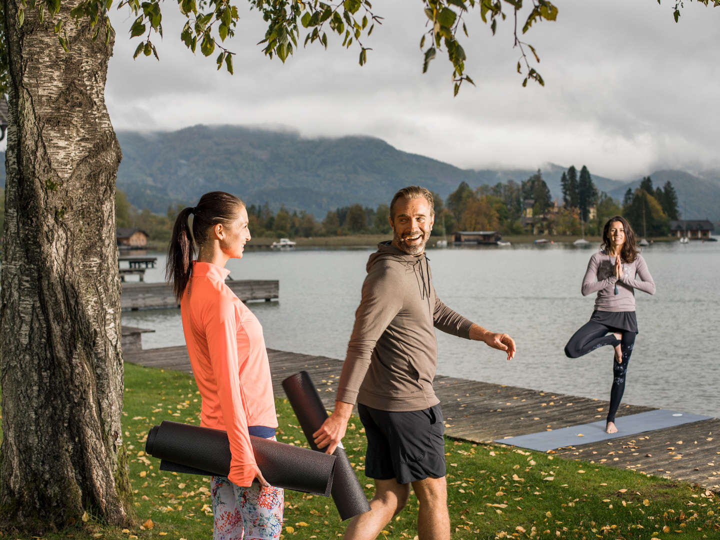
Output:
<instances>
[{"instance_id":1,"label":"black shorts worn by the man in brown hoodie","mask_svg":"<svg viewBox=\"0 0 720 540\"><path fill-rule=\"evenodd\" d=\"M440 405L394 413L358 403L365 426L365 476L408 484L445 476L445 425Z\"/></svg>"}]
</instances>

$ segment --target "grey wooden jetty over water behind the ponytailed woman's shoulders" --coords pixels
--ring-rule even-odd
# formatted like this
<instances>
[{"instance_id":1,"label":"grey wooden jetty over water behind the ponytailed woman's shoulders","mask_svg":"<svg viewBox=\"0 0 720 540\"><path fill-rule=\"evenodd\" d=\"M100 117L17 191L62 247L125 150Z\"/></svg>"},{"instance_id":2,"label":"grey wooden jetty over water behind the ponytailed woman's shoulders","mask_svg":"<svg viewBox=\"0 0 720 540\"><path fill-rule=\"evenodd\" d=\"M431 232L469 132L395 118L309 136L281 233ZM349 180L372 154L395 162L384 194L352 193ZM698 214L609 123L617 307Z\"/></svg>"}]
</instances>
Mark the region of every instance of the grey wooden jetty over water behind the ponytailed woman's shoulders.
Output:
<instances>
[{"instance_id":1,"label":"grey wooden jetty over water behind the ponytailed woman's shoulders","mask_svg":"<svg viewBox=\"0 0 720 540\"><path fill-rule=\"evenodd\" d=\"M278 297L280 289L276 279L228 279L225 283L243 302L269 302ZM177 307L177 302L172 289L166 283L123 283L120 306L124 310L139 310L149 307Z\"/></svg>"}]
</instances>

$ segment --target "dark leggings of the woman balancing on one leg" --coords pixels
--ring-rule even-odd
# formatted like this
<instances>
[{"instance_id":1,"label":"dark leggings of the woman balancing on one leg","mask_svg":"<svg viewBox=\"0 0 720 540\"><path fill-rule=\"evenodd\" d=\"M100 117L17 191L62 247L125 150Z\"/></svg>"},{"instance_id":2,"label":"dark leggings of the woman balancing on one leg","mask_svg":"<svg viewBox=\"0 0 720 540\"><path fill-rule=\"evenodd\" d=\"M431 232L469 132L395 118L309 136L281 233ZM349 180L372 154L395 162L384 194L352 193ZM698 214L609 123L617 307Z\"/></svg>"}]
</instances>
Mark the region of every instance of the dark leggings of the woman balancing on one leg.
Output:
<instances>
[{"instance_id":1,"label":"dark leggings of the woman balancing on one leg","mask_svg":"<svg viewBox=\"0 0 720 540\"><path fill-rule=\"evenodd\" d=\"M612 332L621 332L623 337L620 341L613 336ZM608 410L608 422L615 421L615 413L620 406L620 400L625 392L625 374L628 370L628 362L632 354L632 348L635 344L635 333L619 328L611 328L609 326L598 323L595 320L589 320L582 325L577 332L572 334L572 338L565 346L565 355L568 358L577 358L590 351L594 351L603 345L616 346L620 344L623 361L618 364L613 359L613 386L610 390L610 410Z\"/></svg>"}]
</instances>

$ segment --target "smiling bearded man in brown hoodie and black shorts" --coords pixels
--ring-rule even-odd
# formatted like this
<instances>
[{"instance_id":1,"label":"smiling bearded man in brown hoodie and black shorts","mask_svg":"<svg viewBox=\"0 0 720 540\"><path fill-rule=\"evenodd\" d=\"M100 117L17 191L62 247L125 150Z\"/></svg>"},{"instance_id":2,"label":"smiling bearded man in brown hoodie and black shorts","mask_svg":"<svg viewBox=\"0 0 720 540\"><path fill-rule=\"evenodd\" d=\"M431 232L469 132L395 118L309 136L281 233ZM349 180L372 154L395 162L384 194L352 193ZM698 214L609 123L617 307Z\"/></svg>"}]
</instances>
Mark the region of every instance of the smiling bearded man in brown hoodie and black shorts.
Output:
<instances>
[{"instance_id":1,"label":"smiling bearded man in brown hoodie and black shorts","mask_svg":"<svg viewBox=\"0 0 720 540\"><path fill-rule=\"evenodd\" d=\"M402 510L410 485L418 498L420 540L449 540L445 431L433 391L434 328L485 341L515 355L508 334L492 333L447 307L432 284L425 246L435 215L427 189L400 189L390 203L392 242L381 242L367 263L362 299L338 382L336 407L314 433L335 451L355 402L368 448L365 474L375 480L371 510L353 518L346 540L374 539Z\"/></svg>"}]
</instances>

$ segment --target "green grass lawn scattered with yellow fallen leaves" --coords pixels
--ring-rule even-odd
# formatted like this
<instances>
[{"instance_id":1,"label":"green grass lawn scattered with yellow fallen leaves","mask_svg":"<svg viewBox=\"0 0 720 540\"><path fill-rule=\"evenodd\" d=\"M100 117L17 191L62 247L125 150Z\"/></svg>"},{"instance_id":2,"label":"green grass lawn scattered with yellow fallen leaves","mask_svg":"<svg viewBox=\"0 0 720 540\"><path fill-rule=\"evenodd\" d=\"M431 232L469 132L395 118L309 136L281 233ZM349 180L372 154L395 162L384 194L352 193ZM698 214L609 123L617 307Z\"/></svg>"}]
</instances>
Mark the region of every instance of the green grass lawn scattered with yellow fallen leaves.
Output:
<instances>
[{"instance_id":1,"label":"green grass lawn scattered with yellow fallen leaves","mask_svg":"<svg viewBox=\"0 0 720 540\"><path fill-rule=\"evenodd\" d=\"M276 400L276 408L278 439L307 446L287 400ZM159 461L143 451L150 427L162 420L199 423L199 395L192 377L125 364L123 415L137 525L120 531L87 516L83 526L43 538L212 538L209 479L161 472ZM353 417L343 443L370 496L372 480L363 473L362 431ZM450 438L446 460L453 539L720 539L720 498L700 487ZM286 491L285 503L283 538L342 536L345 526L332 499ZM411 495L408 507L380 538L415 538L417 510ZM30 540L7 534L2 538Z\"/></svg>"}]
</instances>

